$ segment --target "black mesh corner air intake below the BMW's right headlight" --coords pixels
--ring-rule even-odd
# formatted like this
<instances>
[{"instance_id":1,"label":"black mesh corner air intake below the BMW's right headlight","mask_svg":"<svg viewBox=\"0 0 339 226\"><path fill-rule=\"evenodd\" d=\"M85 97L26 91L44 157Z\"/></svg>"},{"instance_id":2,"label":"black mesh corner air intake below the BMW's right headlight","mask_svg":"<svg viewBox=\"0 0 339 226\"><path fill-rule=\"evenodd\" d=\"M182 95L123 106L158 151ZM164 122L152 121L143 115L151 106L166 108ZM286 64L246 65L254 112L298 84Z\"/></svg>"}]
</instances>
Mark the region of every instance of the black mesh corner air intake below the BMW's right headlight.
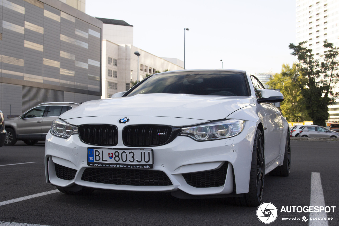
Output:
<instances>
[{"instance_id":1,"label":"black mesh corner air intake below the BMW's right headlight","mask_svg":"<svg viewBox=\"0 0 339 226\"><path fill-rule=\"evenodd\" d=\"M187 184L196 188L213 188L220 187L225 184L226 172L228 162L225 162L219 169L196 172L196 173L183 173Z\"/></svg>"}]
</instances>

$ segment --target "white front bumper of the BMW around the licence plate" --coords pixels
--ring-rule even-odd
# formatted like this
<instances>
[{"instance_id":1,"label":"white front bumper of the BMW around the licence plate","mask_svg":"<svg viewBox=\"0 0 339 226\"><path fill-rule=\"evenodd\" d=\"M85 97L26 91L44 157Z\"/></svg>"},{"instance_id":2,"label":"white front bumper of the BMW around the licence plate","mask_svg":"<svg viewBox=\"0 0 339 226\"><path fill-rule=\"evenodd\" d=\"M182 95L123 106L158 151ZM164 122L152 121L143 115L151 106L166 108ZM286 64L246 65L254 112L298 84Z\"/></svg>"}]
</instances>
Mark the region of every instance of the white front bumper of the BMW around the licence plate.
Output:
<instances>
[{"instance_id":1,"label":"white front bumper of the BMW around the licence plate","mask_svg":"<svg viewBox=\"0 0 339 226\"><path fill-rule=\"evenodd\" d=\"M119 137L121 137L122 128L122 125L121 128L118 128ZM77 134L63 139L48 133L45 147L46 181L51 182L55 186L65 188L79 185L93 189L126 191L174 192L181 190L190 195L246 193L248 192L250 180L255 130L256 123L246 121L244 130L235 137L197 142L190 137L178 136L171 143L150 147L153 149L154 155L154 166L151 170L163 172L170 180L170 185L161 186L122 185L121 183L109 184L82 180L82 176L88 168L107 170L111 170L112 168L88 166L87 148L93 147L93 145L81 142ZM112 148L131 149L131 147L125 147L120 138L118 145ZM65 172L71 172L73 176L60 176L60 166L64 167L62 169L65 169ZM201 172L201 175L211 175L209 174L210 172L213 173L213 171L221 170L222 168L226 170L226 175L223 179L224 183L221 186L212 185L211 187L211 185L209 185L209 187L195 187L196 184L194 184L192 180L187 179L187 175L193 175L194 177L194 175L199 175L199 172ZM133 171L134 169L124 170ZM104 174L102 175L105 176ZM206 179L201 179L202 177L198 176L193 178L193 181Z\"/></svg>"}]
</instances>

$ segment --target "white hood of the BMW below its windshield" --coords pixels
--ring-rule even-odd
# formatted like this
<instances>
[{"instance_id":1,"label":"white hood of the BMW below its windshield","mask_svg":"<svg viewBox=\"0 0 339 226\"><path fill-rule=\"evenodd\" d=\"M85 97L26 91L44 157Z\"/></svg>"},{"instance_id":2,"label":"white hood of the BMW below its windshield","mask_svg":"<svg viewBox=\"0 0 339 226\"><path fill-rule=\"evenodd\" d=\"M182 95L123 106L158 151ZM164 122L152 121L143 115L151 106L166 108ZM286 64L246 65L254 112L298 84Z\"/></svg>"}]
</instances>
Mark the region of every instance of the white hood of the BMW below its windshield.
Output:
<instances>
[{"instance_id":1,"label":"white hood of the BMW below its windshield","mask_svg":"<svg viewBox=\"0 0 339 226\"><path fill-rule=\"evenodd\" d=\"M60 118L160 116L218 120L253 103L252 97L139 94L131 97L87 101L65 112Z\"/></svg>"}]
</instances>

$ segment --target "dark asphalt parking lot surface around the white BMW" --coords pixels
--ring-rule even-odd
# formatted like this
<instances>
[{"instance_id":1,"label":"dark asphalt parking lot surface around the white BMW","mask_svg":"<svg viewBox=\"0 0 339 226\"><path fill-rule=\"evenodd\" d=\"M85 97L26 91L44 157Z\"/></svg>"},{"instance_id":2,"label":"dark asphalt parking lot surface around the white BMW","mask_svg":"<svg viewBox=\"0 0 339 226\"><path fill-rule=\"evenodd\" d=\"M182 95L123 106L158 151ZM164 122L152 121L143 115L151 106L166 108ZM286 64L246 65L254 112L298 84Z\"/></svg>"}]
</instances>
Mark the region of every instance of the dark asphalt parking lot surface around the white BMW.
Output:
<instances>
[{"instance_id":1,"label":"dark asphalt parking lot surface around the white BMW","mask_svg":"<svg viewBox=\"0 0 339 226\"><path fill-rule=\"evenodd\" d=\"M339 225L338 145L338 142L291 142L290 176L265 176L263 201L275 204L279 211L272 225ZM43 160L44 143L27 146L18 142L0 148L0 225L265 225L257 218L257 207L236 206L225 199L180 200L169 193L115 191L66 195L45 182ZM320 176L324 203L318 199L319 193L314 195L320 191L316 185L311 186L311 181L317 179L314 175ZM52 192L40 194L47 191ZM41 196L30 196L35 194ZM336 208L334 212L321 213L326 216L280 211L282 207L312 205ZM302 220L303 216L307 221ZM315 217L332 220L311 219Z\"/></svg>"}]
</instances>

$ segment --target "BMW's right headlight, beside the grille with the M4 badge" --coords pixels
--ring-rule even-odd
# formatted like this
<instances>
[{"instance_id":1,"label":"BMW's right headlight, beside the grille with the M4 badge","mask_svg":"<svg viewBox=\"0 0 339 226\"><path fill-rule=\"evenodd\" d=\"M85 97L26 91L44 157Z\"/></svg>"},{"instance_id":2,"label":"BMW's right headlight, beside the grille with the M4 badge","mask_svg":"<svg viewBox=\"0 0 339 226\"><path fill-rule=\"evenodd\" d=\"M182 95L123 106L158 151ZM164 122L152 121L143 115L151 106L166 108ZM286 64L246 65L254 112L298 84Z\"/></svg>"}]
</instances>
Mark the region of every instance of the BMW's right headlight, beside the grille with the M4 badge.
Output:
<instances>
[{"instance_id":1,"label":"BMW's right headlight, beside the grille with the M4 badge","mask_svg":"<svg viewBox=\"0 0 339 226\"><path fill-rule=\"evenodd\" d=\"M182 128L180 136L195 140L215 140L238 135L244 129L245 121L229 119L220 123Z\"/></svg>"}]
</instances>

